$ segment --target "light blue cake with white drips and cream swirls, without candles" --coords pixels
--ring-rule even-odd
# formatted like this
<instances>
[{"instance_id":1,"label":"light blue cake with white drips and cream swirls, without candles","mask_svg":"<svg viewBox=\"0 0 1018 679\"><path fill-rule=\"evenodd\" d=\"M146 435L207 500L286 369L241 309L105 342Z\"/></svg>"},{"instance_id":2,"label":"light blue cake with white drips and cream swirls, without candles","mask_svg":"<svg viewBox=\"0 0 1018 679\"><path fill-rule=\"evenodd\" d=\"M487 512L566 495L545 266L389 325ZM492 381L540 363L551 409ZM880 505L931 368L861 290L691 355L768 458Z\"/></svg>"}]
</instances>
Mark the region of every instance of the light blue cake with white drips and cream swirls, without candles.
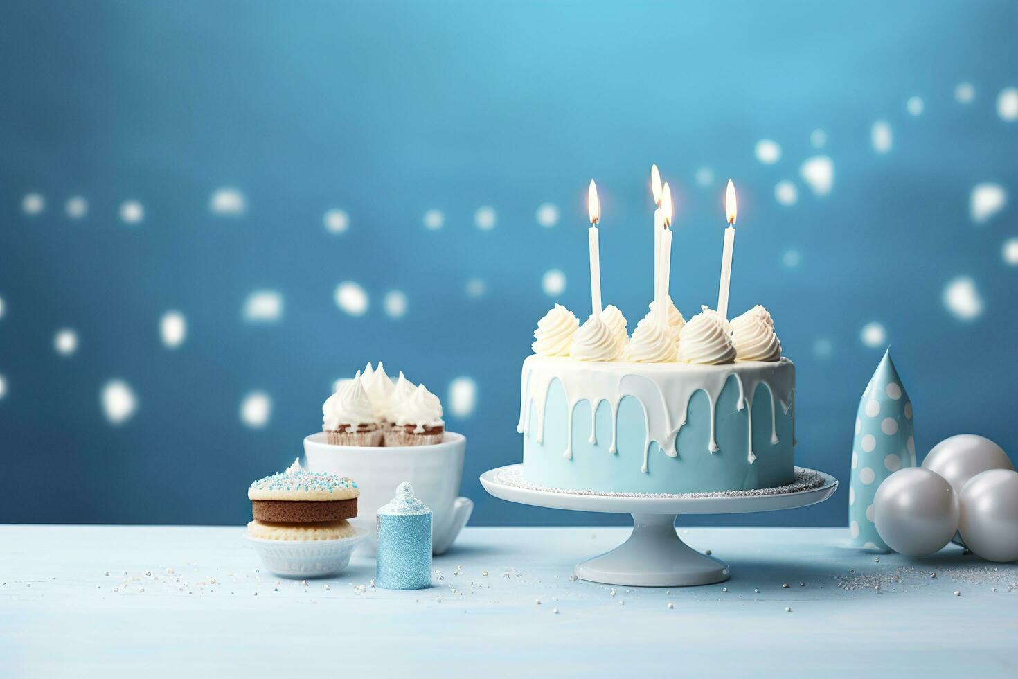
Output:
<instances>
[{"instance_id":1,"label":"light blue cake with white drips and cream swirls, without candles","mask_svg":"<svg viewBox=\"0 0 1018 679\"><path fill-rule=\"evenodd\" d=\"M542 320L541 353L523 361L517 428L528 483L656 494L792 483L795 366L781 357L770 314L757 306L729 324L704 309L684 324L673 310L669 322L653 339L660 348L647 350L631 345L651 341L641 326L657 323L653 310L631 341L607 319L577 329L561 306ZM575 347L590 324L607 331L600 354ZM591 353L600 359L575 357Z\"/></svg>"}]
</instances>

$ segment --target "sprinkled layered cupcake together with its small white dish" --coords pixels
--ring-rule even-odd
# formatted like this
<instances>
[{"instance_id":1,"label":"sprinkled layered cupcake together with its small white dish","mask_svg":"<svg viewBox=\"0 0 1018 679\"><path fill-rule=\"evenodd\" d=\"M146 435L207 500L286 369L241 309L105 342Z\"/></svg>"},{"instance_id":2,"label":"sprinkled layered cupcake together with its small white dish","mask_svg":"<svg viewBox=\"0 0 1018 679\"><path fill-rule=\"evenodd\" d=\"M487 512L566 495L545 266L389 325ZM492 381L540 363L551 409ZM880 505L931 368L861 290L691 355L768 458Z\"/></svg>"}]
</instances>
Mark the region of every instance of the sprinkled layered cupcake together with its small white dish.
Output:
<instances>
[{"instance_id":1,"label":"sprinkled layered cupcake together with its small white dish","mask_svg":"<svg viewBox=\"0 0 1018 679\"><path fill-rule=\"evenodd\" d=\"M343 572L367 531L349 522L360 489L345 476L316 473L294 460L285 471L247 489L246 537L265 567L280 577L329 577Z\"/></svg>"}]
</instances>

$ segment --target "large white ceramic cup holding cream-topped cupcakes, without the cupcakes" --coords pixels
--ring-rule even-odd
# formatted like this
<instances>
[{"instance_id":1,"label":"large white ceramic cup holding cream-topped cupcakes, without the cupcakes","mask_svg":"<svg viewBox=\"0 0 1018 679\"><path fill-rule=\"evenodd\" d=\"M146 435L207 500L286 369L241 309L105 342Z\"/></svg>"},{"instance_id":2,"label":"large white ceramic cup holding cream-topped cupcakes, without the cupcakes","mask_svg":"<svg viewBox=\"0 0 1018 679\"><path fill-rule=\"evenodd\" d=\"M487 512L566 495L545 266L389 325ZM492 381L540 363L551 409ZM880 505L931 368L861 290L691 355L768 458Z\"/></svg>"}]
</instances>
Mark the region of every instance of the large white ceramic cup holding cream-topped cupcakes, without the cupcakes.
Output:
<instances>
[{"instance_id":1,"label":"large white ceramic cup holding cream-topped cupcakes, without the cupcakes","mask_svg":"<svg viewBox=\"0 0 1018 679\"><path fill-rule=\"evenodd\" d=\"M473 502L457 495L465 454L466 437L454 432L446 432L442 443L432 446L333 446L321 432L304 439L309 471L349 476L360 488L357 516L349 521L367 531L361 546L365 554L374 554L376 549L376 512L389 504L403 482L409 482L414 494L431 508L432 551L444 554L473 511Z\"/></svg>"}]
</instances>

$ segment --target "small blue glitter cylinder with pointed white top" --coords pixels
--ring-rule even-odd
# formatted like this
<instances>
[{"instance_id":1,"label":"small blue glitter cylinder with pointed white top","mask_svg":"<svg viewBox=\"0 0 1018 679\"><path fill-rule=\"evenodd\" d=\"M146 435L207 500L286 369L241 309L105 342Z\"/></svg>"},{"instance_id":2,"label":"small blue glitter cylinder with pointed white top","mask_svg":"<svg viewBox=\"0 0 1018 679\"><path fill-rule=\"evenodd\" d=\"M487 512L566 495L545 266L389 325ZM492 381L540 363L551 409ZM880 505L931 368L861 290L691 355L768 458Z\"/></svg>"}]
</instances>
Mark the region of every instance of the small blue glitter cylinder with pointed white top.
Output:
<instances>
[{"instance_id":1,"label":"small blue glitter cylinder with pointed white top","mask_svg":"<svg viewBox=\"0 0 1018 679\"><path fill-rule=\"evenodd\" d=\"M386 589L432 586L432 510L402 483L378 511L375 585Z\"/></svg>"}]
</instances>

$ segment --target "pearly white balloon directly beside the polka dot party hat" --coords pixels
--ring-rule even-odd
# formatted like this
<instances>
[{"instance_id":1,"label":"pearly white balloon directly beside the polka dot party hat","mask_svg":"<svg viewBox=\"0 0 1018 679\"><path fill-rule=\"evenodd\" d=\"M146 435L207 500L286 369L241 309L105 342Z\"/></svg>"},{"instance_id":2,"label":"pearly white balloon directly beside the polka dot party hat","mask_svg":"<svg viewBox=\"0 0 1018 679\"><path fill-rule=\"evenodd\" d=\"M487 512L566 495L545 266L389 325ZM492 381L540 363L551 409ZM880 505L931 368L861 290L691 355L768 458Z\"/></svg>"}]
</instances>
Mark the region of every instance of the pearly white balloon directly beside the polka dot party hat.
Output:
<instances>
[{"instance_id":1,"label":"pearly white balloon directly beside the polka dot party hat","mask_svg":"<svg viewBox=\"0 0 1018 679\"><path fill-rule=\"evenodd\" d=\"M924 557L958 530L958 495L942 476L922 467L899 469L873 498L876 532L895 552Z\"/></svg>"}]
</instances>

